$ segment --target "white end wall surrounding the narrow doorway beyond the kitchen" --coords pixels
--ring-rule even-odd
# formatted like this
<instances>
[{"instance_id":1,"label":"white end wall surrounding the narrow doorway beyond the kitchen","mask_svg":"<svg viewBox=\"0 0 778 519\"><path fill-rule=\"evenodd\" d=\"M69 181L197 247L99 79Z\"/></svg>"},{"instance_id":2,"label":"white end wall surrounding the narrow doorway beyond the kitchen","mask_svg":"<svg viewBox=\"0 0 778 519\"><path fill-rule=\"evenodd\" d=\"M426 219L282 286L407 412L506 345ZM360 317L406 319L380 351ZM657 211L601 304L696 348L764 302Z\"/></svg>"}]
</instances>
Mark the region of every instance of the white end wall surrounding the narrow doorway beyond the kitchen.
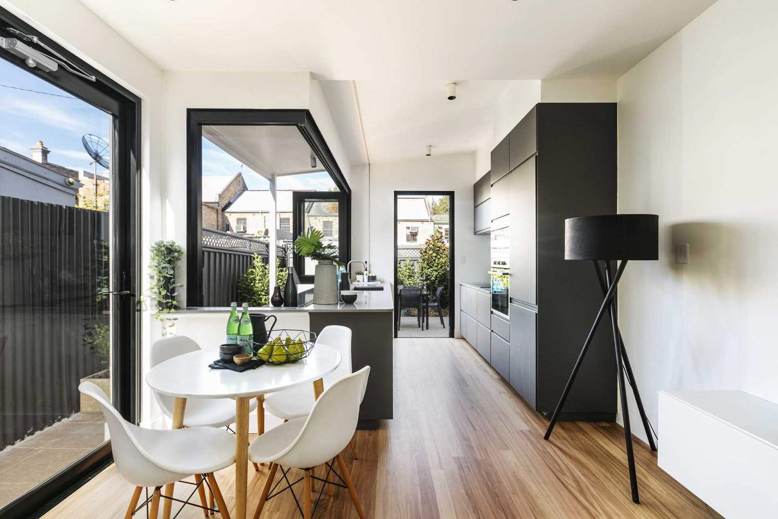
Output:
<instances>
[{"instance_id":1,"label":"white end wall surrounding the narrow doorway beyond the kitchen","mask_svg":"<svg viewBox=\"0 0 778 519\"><path fill-rule=\"evenodd\" d=\"M489 236L473 234L474 169L474 153L373 164L370 271L379 279L394 282L394 191L454 191L454 283L485 281L489 269ZM454 290L454 295L454 315L458 315L459 291Z\"/></svg>"}]
</instances>

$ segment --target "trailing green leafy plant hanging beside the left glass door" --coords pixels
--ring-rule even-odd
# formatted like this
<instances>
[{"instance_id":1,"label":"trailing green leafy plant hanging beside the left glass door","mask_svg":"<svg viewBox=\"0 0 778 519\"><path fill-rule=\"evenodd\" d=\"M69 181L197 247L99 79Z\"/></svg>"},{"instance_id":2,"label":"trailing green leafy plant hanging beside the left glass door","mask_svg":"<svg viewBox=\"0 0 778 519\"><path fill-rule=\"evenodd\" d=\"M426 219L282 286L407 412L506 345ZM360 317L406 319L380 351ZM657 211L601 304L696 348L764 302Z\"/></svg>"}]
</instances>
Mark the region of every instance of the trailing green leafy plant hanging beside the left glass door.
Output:
<instances>
[{"instance_id":1,"label":"trailing green leafy plant hanging beside the left glass door","mask_svg":"<svg viewBox=\"0 0 778 519\"><path fill-rule=\"evenodd\" d=\"M150 251L149 298L155 303L154 317L162 321L162 335L165 336L170 321L176 321L171 314L175 314L178 307L178 289L184 286L176 282L178 261L184 256L184 249L172 240L159 240Z\"/></svg>"}]
</instances>

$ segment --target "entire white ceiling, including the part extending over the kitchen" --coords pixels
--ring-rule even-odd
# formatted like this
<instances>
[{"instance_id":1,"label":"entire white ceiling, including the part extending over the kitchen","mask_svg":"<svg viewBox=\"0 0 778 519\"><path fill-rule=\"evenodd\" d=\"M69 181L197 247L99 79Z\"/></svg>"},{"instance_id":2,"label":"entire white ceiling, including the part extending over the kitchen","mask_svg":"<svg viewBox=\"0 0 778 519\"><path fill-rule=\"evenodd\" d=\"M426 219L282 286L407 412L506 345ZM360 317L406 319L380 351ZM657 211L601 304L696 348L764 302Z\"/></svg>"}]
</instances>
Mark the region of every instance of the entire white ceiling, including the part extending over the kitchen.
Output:
<instances>
[{"instance_id":1,"label":"entire white ceiling, including the part extending over the kitchen","mask_svg":"<svg viewBox=\"0 0 778 519\"><path fill-rule=\"evenodd\" d=\"M476 149L503 80L618 78L715 0L81 1L166 70L312 72L365 163L356 90L377 163Z\"/></svg>"}]
</instances>

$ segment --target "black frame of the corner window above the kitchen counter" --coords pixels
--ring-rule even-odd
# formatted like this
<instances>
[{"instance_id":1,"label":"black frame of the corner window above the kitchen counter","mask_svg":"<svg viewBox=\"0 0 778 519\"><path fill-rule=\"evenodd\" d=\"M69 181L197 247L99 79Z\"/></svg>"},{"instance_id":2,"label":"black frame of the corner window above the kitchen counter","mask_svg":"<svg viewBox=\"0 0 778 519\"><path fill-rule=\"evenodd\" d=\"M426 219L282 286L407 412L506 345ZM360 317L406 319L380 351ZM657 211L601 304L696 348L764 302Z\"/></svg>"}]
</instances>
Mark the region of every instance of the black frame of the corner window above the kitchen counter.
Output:
<instances>
[{"instance_id":1,"label":"black frame of the corner window above the kitchen counter","mask_svg":"<svg viewBox=\"0 0 778 519\"><path fill-rule=\"evenodd\" d=\"M345 244L341 256L351 255L351 188L321 135L310 110L284 108L187 108L187 300L188 308L202 307L202 127L203 126L295 126L322 167L328 171L344 199L342 230ZM335 191L333 191L335 193ZM332 193L330 193L332 195ZM275 222L274 222L275 225ZM293 218L294 227L294 218ZM296 236L296 234L294 234ZM300 279L301 282L307 282ZM310 281L312 282L312 281Z\"/></svg>"}]
</instances>

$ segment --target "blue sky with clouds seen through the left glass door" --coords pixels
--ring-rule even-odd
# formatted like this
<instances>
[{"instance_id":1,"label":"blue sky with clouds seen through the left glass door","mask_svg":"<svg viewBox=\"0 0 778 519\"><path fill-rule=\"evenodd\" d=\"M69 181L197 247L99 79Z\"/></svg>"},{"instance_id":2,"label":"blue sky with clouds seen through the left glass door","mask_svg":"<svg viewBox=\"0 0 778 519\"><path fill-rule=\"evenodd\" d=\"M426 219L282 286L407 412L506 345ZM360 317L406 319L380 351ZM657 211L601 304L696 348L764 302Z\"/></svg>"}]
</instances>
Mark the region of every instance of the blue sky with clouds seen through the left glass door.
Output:
<instances>
[{"instance_id":1,"label":"blue sky with clouds seen through the left glass door","mask_svg":"<svg viewBox=\"0 0 778 519\"><path fill-rule=\"evenodd\" d=\"M51 150L49 162L91 171L82 135L108 140L110 121L103 110L0 58L0 146L32 157L30 148L40 140Z\"/></svg>"}]
</instances>

